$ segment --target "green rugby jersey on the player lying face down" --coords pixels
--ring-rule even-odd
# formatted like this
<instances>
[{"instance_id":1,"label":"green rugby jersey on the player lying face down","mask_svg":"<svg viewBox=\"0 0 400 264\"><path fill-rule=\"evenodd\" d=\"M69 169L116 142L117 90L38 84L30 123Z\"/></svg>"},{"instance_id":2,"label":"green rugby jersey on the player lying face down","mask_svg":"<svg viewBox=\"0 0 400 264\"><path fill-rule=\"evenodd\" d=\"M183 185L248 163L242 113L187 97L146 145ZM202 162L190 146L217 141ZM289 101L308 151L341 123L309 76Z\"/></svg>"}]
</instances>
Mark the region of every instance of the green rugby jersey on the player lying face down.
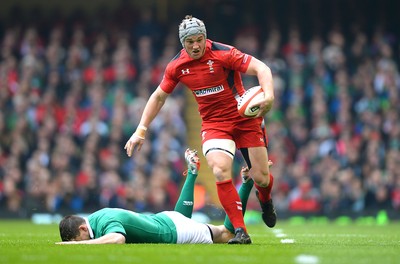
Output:
<instances>
[{"instance_id":1,"label":"green rugby jersey on the player lying face down","mask_svg":"<svg viewBox=\"0 0 400 264\"><path fill-rule=\"evenodd\" d=\"M91 238L108 233L121 233L126 243L173 243L176 244L175 224L163 213L138 214L118 208L104 208L87 218Z\"/></svg>"}]
</instances>

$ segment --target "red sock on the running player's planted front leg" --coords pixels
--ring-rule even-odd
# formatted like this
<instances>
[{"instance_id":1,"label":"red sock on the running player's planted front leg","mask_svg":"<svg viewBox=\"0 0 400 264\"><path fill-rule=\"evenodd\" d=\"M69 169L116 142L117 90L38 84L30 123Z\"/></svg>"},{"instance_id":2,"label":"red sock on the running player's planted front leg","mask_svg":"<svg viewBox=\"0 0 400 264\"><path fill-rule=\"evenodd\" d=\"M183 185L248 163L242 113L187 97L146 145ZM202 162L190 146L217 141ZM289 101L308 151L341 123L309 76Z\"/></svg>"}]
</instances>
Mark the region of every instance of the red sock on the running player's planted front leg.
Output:
<instances>
[{"instance_id":1,"label":"red sock on the running player's planted front leg","mask_svg":"<svg viewBox=\"0 0 400 264\"><path fill-rule=\"evenodd\" d=\"M233 227L235 229L242 227L246 231L242 214L242 202L240 201L239 194L232 184L232 180L217 182L217 192L219 201L228 215L229 220L232 222Z\"/></svg>"}]
</instances>

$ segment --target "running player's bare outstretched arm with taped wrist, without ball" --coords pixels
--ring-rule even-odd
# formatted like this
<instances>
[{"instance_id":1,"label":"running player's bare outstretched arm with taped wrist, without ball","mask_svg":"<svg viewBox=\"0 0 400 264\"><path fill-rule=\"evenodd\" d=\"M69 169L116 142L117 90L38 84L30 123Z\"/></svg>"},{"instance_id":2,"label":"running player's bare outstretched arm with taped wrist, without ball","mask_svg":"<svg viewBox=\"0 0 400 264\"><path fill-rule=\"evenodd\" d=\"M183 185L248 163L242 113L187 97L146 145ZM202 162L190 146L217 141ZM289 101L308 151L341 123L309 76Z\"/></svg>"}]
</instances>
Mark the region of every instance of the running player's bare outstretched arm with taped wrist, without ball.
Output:
<instances>
[{"instance_id":1,"label":"running player's bare outstretched arm with taped wrist, without ball","mask_svg":"<svg viewBox=\"0 0 400 264\"><path fill-rule=\"evenodd\" d=\"M164 92L160 86L151 94L149 100L147 101L146 106L144 107L142 118L140 119L140 123L136 128L136 131L132 134L129 140L126 142L124 149L126 150L126 154L131 157L133 151L137 149L140 151L144 140L146 138L147 128L153 119L157 116L158 112L160 112L161 107L164 105L165 100L167 99L168 94Z\"/></svg>"}]
</instances>

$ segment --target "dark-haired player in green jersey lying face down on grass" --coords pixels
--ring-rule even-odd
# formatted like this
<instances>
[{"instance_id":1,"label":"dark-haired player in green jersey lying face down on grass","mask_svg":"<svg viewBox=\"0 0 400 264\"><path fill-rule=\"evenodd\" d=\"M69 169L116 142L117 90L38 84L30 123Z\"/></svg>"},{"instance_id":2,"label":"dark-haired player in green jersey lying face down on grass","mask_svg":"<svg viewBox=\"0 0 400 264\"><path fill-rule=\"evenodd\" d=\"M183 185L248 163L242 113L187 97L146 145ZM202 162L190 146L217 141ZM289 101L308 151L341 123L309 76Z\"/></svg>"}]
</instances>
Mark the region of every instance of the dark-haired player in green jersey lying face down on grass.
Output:
<instances>
[{"instance_id":1,"label":"dark-haired player in green jersey lying face down on grass","mask_svg":"<svg viewBox=\"0 0 400 264\"><path fill-rule=\"evenodd\" d=\"M227 243L234 237L234 228L228 217L224 225L218 226L191 219L194 184L200 168L197 151L187 149L185 160L188 172L174 211L140 214L119 208L104 208L87 218L69 215L59 224L62 242L57 244ZM239 195L244 213L253 180L246 169L242 170L242 177Z\"/></svg>"}]
</instances>

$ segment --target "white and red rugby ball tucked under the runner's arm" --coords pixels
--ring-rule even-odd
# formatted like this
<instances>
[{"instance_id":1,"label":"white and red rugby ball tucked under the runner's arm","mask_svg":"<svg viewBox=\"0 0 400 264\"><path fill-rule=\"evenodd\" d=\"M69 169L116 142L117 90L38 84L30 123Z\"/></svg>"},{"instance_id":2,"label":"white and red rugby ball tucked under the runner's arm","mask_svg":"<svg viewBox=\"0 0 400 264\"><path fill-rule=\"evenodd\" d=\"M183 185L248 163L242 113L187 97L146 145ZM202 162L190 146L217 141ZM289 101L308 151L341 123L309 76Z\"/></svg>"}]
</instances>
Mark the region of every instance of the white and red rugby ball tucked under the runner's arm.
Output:
<instances>
[{"instance_id":1,"label":"white and red rugby ball tucked under the runner's arm","mask_svg":"<svg viewBox=\"0 0 400 264\"><path fill-rule=\"evenodd\" d=\"M238 112L243 117L254 117L260 111L259 106L252 106L264 99L264 91L261 86L254 86L241 96L238 100Z\"/></svg>"}]
</instances>

